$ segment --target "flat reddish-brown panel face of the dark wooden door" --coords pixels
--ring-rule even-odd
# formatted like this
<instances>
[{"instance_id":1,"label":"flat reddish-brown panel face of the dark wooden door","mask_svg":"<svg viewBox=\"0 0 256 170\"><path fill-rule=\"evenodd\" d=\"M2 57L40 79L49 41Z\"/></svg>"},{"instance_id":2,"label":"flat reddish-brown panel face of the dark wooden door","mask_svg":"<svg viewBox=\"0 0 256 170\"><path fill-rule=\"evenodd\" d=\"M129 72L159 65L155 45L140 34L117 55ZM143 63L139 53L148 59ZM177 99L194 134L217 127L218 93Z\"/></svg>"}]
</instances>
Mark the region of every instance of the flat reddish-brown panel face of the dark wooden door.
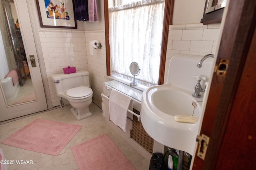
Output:
<instances>
[{"instance_id":1,"label":"flat reddish-brown panel face of the dark wooden door","mask_svg":"<svg viewBox=\"0 0 256 170\"><path fill-rule=\"evenodd\" d=\"M216 169L255 169L256 31L232 105ZM228 159L227 159L228 158ZM228 161L226 161L228 160Z\"/></svg>"}]
</instances>

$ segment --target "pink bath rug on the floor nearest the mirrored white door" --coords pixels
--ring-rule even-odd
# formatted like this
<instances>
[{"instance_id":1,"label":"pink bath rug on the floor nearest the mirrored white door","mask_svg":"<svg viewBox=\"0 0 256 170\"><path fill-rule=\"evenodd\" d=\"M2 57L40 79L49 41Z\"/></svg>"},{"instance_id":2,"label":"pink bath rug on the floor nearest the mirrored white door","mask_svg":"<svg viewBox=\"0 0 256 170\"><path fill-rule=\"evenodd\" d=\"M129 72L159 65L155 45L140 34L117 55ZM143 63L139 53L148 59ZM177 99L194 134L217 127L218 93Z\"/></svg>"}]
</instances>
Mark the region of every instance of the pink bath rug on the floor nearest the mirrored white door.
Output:
<instances>
[{"instance_id":1,"label":"pink bath rug on the floor nearest the mirrored white door","mask_svg":"<svg viewBox=\"0 0 256 170\"><path fill-rule=\"evenodd\" d=\"M82 126L36 119L1 143L57 156Z\"/></svg>"}]
</instances>

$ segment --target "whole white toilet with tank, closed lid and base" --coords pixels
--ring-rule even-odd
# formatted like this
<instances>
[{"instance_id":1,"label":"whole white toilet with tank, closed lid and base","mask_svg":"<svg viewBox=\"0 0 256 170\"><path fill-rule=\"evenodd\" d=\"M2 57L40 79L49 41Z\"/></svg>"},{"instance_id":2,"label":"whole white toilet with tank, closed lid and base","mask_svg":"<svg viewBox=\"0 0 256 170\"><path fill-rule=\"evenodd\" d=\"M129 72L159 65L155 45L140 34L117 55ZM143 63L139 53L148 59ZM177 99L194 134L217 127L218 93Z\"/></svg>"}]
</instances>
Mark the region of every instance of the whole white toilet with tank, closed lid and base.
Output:
<instances>
[{"instance_id":1,"label":"whole white toilet with tank, closed lid and base","mask_svg":"<svg viewBox=\"0 0 256 170\"><path fill-rule=\"evenodd\" d=\"M70 74L52 74L57 96L68 100L70 109L77 120L92 115L89 105L92 103L92 89L90 88L89 72L77 70Z\"/></svg>"}]
</instances>

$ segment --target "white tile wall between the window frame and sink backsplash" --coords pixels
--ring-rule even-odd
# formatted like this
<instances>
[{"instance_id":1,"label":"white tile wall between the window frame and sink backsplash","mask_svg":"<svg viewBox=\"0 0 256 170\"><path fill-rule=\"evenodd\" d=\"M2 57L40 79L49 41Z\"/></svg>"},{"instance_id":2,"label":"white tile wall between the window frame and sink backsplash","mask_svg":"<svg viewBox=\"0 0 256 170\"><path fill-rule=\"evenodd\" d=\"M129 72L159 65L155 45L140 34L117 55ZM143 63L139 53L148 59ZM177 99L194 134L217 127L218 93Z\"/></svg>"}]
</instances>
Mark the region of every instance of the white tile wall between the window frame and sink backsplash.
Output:
<instances>
[{"instance_id":1,"label":"white tile wall between the window frame and sink backsplash","mask_svg":"<svg viewBox=\"0 0 256 170\"><path fill-rule=\"evenodd\" d=\"M193 29L189 26L192 25ZM186 29L188 27L188 29ZM166 54L166 64L164 73L164 83L166 83L169 69L169 62L175 54L206 55L214 54L218 44L220 34L219 25L208 27L198 24L170 26L168 36L168 46Z\"/></svg>"}]
</instances>

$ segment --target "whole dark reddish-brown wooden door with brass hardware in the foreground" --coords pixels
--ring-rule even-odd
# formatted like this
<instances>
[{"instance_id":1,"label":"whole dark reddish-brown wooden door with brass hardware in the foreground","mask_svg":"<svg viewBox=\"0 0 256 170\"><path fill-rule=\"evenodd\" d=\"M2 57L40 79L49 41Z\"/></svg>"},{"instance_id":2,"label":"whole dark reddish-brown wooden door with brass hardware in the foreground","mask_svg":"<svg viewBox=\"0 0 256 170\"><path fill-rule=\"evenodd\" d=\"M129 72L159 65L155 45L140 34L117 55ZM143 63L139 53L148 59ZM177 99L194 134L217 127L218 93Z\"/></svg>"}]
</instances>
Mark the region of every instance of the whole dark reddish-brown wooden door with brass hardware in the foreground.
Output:
<instances>
[{"instance_id":1,"label":"whole dark reddish-brown wooden door with brass hardware in the foreground","mask_svg":"<svg viewBox=\"0 0 256 170\"><path fill-rule=\"evenodd\" d=\"M255 169L255 24L256 1L230 1L216 61L228 65L225 74L214 72L201 129L210 142L193 170Z\"/></svg>"}]
</instances>

